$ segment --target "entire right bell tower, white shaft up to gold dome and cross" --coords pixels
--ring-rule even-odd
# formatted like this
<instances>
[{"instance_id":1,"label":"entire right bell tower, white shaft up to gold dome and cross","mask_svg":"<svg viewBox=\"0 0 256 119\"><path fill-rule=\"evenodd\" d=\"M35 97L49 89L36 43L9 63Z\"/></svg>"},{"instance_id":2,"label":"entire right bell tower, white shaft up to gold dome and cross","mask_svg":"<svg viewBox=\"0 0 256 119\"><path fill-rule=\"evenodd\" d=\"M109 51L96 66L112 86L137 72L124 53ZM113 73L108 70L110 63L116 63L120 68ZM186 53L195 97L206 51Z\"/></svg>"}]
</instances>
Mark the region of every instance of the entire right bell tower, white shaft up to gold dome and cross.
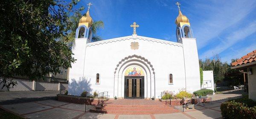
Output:
<instances>
[{"instance_id":1,"label":"entire right bell tower, white shaft up to gold dome and cross","mask_svg":"<svg viewBox=\"0 0 256 119\"><path fill-rule=\"evenodd\" d=\"M176 5L179 8L179 15L175 20L176 36L177 42L183 46L185 86L187 91L196 91L201 87L196 39L193 37L189 19L180 11L180 3L177 2Z\"/></svg>"}]
</instances>

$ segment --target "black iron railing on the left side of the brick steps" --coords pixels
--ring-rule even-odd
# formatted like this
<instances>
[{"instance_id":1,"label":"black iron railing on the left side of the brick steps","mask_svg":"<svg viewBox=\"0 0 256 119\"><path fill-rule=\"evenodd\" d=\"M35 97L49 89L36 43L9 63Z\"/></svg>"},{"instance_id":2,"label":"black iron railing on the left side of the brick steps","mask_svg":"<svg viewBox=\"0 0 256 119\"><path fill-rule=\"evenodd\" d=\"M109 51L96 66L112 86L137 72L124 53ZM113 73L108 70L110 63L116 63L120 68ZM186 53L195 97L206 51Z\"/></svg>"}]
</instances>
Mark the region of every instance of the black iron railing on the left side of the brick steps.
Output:
<instances>
[{"instance_id":1,"label":"black iron railing on the left side of the brick steps","mask_svg":"<svg viewBox=\"0 0 256 119\"><path fill-rule=\"evenodd\" d=\"M101 92L94 97L87 97L85 99L85 111L88 111L90 108L94 108L97 105L102 106L105 101L109 100L108 91Z\"/></svg>"}]
</instances>

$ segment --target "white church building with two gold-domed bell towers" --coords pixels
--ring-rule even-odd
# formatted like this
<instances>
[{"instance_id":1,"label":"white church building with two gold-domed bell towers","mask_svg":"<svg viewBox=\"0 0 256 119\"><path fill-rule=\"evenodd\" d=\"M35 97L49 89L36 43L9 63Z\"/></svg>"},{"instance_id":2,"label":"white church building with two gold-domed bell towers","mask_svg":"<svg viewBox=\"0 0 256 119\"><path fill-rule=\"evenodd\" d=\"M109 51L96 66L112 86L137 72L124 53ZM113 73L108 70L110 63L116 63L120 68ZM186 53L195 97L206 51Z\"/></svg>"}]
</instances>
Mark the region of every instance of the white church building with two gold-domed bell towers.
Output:
<instances>
[{"instance_id":1,"label":"white church building with two gold-domed bell towers","mask_svg":"<svg viewBox=\"0 0 256 119\"><path fill-rule=\"evenodd\" d=\"M201 89L196 39L180 9L175 23L177 42L138 36L135 22L131 36L91 42L88 10L76 30L68 94L108 91L110 98L148 99L166 90Z\"/></svg>"}]
</instances>

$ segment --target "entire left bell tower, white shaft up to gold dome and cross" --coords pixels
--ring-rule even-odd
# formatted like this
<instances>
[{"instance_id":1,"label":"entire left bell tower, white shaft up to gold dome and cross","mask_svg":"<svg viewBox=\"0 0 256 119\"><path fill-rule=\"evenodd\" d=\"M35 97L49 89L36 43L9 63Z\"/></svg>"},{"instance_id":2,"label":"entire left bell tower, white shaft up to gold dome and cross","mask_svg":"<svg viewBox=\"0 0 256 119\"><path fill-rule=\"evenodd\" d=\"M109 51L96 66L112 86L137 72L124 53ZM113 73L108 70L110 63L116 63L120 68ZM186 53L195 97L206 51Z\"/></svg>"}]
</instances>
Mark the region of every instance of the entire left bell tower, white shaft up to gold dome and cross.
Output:
<instances>
[{"instance_id":1,"label":"entire left bell tower, white shaft up to gold dome and cross","mask_svg":"<svg viewBox=\"0 0 256 119\"><path fill-rule=\"evenodd\" d=\"M73 57L76 59L76 62L71 64L72 67L69 71L68 93L77 96L81 94L81 91L73 90L71 84L73 81L79 81L80 79L84 78L86 44L90 43L92 39L91 26L93 24L93 19L90 17L89 13L90 5L92 5L92 3L87 5L88 10L86 12L86 16L81 17L79 20L78 28L76 29L76 45L72 48ZM82 86L81 88L85 87Z\"/></svg>"}]
</instances>

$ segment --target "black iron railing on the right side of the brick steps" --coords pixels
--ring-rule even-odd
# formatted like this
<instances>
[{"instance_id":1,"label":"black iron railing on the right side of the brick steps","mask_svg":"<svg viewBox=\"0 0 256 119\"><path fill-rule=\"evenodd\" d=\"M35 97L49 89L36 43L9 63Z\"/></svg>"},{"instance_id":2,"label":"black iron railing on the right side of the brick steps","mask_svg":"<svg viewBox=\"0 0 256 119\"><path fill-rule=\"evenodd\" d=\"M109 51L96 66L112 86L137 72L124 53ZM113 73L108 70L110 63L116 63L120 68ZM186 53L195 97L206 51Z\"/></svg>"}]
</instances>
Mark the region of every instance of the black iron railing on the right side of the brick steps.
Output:
<instances>
[{"instance_id":1,"label":"black iron railing on the right side of the brick steps","mask_svg":"<svg viewBox=\"0 0 256 119\"><path fill-rule=\"evenodd\" d=\"M161 92L161 101L164 101L166 105L171 105L172 107L184 112L184 100L176 97L167 92Z\"/></svg>"}]
</instances>

